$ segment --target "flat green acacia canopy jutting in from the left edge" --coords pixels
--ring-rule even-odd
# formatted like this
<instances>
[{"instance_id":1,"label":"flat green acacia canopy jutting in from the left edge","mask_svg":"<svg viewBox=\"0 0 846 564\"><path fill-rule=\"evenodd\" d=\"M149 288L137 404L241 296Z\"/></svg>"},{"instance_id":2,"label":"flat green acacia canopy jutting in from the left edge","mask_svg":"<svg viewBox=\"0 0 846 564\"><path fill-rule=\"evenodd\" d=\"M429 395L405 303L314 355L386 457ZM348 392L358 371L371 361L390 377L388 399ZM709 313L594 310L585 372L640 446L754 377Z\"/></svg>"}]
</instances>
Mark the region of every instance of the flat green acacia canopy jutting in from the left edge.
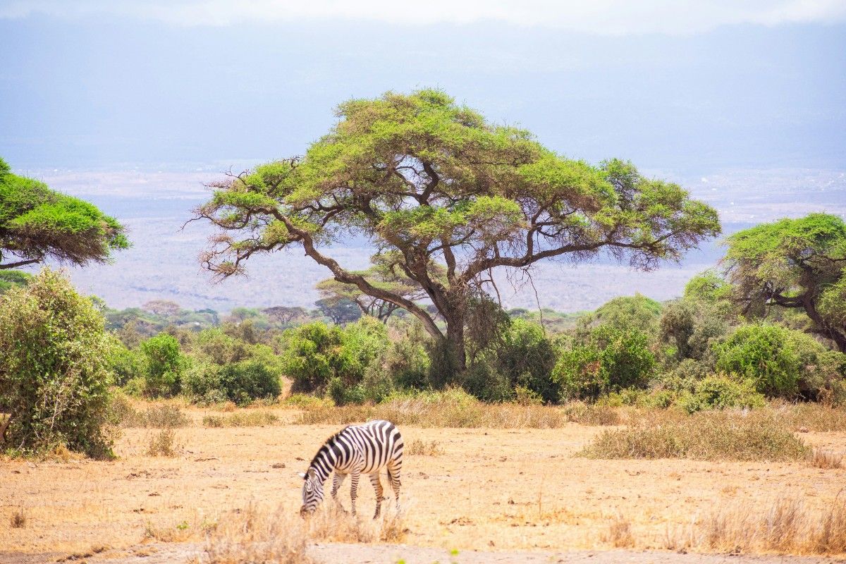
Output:
<instances>
[{"instance_id":1,"label":"flat green acacia canopy jutting in from the left edge","mask_svg":"<svg viewBox=\"0 0 846 564\"><path fill-rule=\"evenodd\" d=\"M124 226L95 205L11 172L0 159L0 270L45 259L85 265L126 249Z\"/></svg>"}]
</instances>

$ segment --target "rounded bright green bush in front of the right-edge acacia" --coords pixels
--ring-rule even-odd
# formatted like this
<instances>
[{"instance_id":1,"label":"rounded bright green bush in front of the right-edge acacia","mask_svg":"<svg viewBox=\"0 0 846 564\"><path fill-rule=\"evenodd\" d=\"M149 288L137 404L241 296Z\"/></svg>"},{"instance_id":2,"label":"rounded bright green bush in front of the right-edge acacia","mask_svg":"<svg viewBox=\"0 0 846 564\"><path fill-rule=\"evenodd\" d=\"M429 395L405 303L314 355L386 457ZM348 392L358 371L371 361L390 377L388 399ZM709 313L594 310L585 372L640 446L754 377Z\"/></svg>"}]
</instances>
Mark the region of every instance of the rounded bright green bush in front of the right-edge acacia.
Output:
<instances>
[{"instance_id":1,"label":"rounded bright green bush in front of the right-edge acacia","mask_svg":"<svg viewBox=\"0 0 846 564\"><path fill-rule=\"evenodd\" d=\"M766 323L738 327L715 346L717 370L752 381L766 396L796 397L801 364L792 332Z\"/></svg>"}]
</instances>

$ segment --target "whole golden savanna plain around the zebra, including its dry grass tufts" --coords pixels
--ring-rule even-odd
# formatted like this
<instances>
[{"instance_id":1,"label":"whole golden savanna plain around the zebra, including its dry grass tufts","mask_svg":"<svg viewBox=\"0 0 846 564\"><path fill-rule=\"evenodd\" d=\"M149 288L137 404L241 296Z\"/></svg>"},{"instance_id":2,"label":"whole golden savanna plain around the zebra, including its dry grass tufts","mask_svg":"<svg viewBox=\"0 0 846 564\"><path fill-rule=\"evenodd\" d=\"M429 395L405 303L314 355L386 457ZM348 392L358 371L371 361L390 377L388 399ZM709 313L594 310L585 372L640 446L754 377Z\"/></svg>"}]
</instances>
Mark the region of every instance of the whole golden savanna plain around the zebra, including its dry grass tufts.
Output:
<instances>
[{"instance_id":1,"label":"whole golden savanna plain around the zebra, including its dry grass tufts","mask_svg":"<svg viewBox=\"0 0 846 564\"><path fill-rule=\"evenodd\" d=\"M580 404L383 404L376 408L394 410L406 442L402 512L389 501L372 523L372 489L362 480L357 521L324 503L305 524L295 473L338 429L319 420L356 413L161 405L127 407L133 417L124 418L113 461L69 452L4 459L4 557L309 561L298 550L312 542L407 545L385 561L414 556L415 547L443 550L444 561L463 561L451 550L846 552L846 416L821 406L691 416ZM632 437L647 420L678 444L709 426L739 430L743 444L652 459L635 446L660 439ZM603 458L609 441L629 451ZM349 482L340 499L349 508Z\"/></svg>"}]
</instances>

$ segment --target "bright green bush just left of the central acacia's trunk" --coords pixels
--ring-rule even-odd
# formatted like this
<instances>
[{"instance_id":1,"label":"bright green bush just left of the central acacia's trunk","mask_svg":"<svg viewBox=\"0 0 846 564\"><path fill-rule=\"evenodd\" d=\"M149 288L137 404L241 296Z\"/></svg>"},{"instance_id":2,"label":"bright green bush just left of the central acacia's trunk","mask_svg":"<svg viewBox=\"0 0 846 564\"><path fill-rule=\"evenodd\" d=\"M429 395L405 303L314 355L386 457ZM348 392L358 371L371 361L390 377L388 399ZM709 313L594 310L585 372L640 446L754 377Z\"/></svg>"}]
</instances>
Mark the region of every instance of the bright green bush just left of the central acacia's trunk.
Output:
<instances>
[{"instance_id":1,"label":"bright green bush just left of the central acacia's trunk","mask_svg":"<svg viewBox=\"0 0 846 564\"><path fill-rule=\"evenodd\" d=\"M283 341L283 371L294 392L323 392L332 379L339 381L335 390L358 385L388 344L385 326L372 317L344 328L308 323L285 331Z\"/></svg>"}]
</instances>

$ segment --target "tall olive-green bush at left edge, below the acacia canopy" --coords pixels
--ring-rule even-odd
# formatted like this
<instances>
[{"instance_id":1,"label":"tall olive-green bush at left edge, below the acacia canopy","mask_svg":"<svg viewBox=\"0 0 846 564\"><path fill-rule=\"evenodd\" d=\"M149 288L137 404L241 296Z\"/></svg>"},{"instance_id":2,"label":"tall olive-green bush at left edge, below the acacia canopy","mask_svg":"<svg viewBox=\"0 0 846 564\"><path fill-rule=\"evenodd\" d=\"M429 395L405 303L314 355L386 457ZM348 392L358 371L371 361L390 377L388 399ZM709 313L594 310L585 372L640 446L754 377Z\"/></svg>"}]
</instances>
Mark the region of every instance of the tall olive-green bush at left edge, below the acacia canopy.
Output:
<instances>
[{"instance_id":1,"label":"tall olive-green bush at left edge, below the acacia canopy","mask_svg":"<svg viewBox=\"0 0 846 564\"><path fill-rule=\"evenodd\" d=\"M0 408L11 413L7 445L36 451L64 444L102 457L107 431L108 359L102 315L70 282L45 268L0 297Z\"/></svg>"}]
</instances>

